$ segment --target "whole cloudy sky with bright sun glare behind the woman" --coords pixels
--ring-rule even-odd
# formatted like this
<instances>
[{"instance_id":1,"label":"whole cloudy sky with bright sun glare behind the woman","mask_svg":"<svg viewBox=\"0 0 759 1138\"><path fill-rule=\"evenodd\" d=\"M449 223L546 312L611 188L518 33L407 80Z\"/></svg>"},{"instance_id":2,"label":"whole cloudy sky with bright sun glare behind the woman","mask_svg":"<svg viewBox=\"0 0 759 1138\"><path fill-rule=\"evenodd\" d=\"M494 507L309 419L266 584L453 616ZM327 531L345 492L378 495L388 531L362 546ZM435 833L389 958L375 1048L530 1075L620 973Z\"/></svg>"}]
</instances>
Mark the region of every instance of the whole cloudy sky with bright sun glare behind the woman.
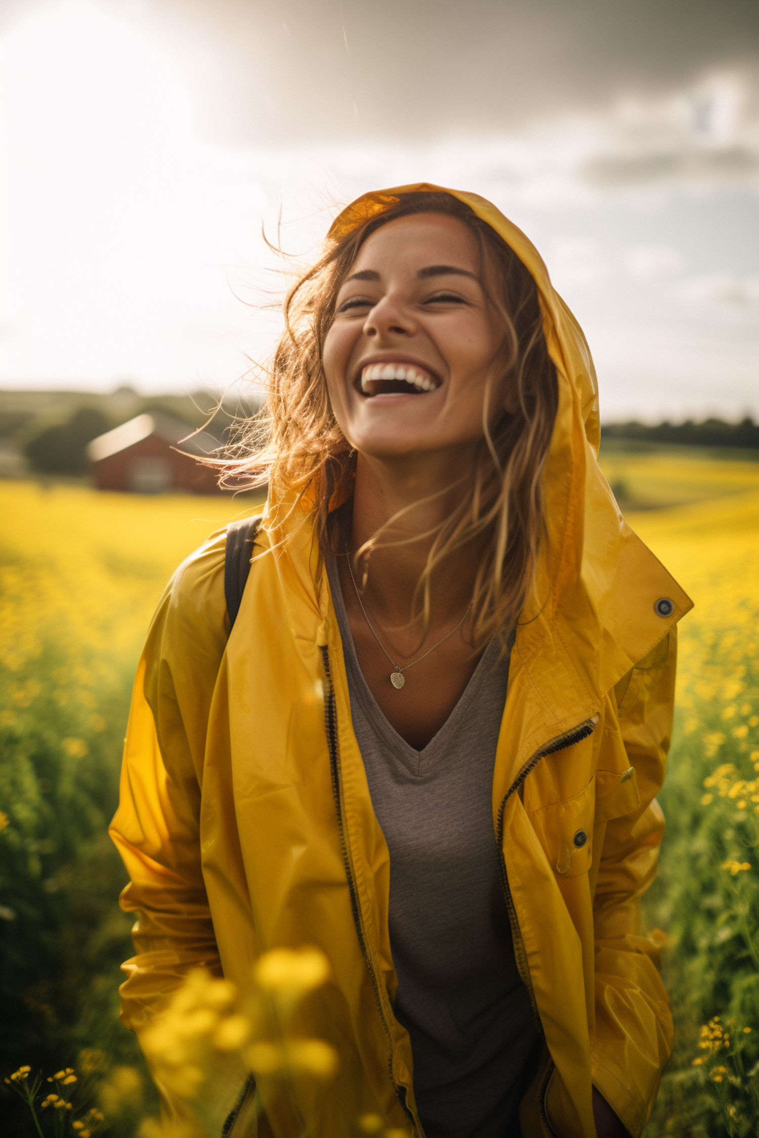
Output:
<instances>
[{"instance_id":1,"label":"whole cloudy sky with bright sun glare behind the woman","mask_svg":"<svg viewBox=\"0 0 759 1138\"><path fill-rule=\"evenodd\" d=\"M756 2L5 0L0 84L6 387L225 386L262 221L428 180L535 241L604 418L759 412Z\"/></svg>"}]
</instances>

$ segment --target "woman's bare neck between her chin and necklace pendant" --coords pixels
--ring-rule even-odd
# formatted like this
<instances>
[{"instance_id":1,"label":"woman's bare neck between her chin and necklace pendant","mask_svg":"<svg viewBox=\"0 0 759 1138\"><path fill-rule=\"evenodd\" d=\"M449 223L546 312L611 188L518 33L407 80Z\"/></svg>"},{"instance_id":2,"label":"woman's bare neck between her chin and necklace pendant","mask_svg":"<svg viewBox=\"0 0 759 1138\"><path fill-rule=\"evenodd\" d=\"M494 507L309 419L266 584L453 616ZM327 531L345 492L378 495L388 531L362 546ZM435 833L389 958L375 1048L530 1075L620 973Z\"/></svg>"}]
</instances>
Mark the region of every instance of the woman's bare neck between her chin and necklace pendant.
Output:
<instances>
[{"instance_id":1,"label":"woman's bare neck between her chin and necklace pendant","mask_svg":"<svg viewBox=\"0 0 759 1138\"><path fill-rule=\"evenodd\" d=\"M362 600L386 627L407 625L414 593L439 525L467 493L461 454L391 462L358 455L349 537L352 564L361 587L365 559L356 552L382 529L369 559ZM396 517L401 514L401 517ZM395 519L395 520L394 520ZM388 522L390 525L388 526ZM419 536L430 535L430 536ZM396 544L402 543L402 544ZM430 582L430 630L449 625L469 604L477 570L476 551L461 547L436 568Z\"/></svg>"}]
</instances>

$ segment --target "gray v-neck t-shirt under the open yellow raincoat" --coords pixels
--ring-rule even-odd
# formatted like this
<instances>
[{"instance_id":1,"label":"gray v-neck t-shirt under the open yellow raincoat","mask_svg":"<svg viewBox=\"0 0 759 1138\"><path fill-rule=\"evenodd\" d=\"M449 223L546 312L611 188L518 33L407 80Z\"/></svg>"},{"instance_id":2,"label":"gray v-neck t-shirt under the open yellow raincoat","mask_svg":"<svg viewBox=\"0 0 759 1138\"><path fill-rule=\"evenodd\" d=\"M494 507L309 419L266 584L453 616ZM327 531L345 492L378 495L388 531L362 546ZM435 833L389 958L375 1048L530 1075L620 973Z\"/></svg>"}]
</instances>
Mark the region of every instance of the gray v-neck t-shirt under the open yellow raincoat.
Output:
<instances>
[{"instance_id":1,"label":"gray v-neck t-shirt under the open yellow raincoat","mask_svg":"<svg viewBox=\"0 0 759 1138\"><path fill-rule=\"evenodd\" d=\"M395 1014L411 1037L422 1125L427 1138L515 1138L538 1032L517 970L493 827L508 655L490 642L448 719L416 751L366 685L333 558L327 570L353 727L390 852ZM388 683L389 673L388 661Z\"/></svg>"}]
</instances>

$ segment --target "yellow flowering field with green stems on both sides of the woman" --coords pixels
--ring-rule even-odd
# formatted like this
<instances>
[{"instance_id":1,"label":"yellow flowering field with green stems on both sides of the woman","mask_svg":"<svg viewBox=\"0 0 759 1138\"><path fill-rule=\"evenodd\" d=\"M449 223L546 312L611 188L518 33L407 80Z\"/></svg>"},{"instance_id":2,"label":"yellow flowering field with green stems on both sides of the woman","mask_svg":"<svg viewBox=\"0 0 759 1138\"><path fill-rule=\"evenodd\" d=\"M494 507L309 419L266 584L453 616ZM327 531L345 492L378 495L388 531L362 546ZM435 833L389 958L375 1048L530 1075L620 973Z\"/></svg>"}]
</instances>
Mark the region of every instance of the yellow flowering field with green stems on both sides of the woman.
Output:
<instances>
[{"instance_id":1,"label":"yellow flowering field with green stems on both sides of the woman","mask_svg":"<svg viewBox=\"0 0 759 1138\"><path fill-rule=\"evenodd\" d=\"M677 1023L646 1133L744 1138L759 1131L759 462L613 452L603 465L629 501L677 503L628 520L696 605L644 913ZM0 1074L74 1067L88 1047L139 1062L116 1020L129 923L104 838L131 676L174 568L258 505L0 483L0 921L18 1023Z\"/></svg>"}]
</instances>

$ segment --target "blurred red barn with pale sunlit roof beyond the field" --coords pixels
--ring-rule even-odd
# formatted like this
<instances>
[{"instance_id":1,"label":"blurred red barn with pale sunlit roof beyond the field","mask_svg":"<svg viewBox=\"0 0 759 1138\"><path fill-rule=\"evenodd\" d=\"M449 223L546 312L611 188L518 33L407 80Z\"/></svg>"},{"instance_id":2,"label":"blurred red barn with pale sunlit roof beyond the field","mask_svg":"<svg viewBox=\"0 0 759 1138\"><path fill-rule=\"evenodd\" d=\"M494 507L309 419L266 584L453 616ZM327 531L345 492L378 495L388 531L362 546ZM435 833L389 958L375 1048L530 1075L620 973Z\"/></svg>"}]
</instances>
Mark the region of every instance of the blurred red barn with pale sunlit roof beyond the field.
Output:
<instances>
[{"instance_id":1,"label":"blurred red barn with pale sunlit roof beyond the field","mask_svg":"<svg viewBox=\"0 0 759 1138\"><path fill-rule=\"evenodd\" d=\"M198 462L197 456L211 454L220 445L208 431L192 435L187 423L156 413L137 415L99 435L86 453L100 490L218 494L216 472Z\"/></svg>"}]
</instances>

